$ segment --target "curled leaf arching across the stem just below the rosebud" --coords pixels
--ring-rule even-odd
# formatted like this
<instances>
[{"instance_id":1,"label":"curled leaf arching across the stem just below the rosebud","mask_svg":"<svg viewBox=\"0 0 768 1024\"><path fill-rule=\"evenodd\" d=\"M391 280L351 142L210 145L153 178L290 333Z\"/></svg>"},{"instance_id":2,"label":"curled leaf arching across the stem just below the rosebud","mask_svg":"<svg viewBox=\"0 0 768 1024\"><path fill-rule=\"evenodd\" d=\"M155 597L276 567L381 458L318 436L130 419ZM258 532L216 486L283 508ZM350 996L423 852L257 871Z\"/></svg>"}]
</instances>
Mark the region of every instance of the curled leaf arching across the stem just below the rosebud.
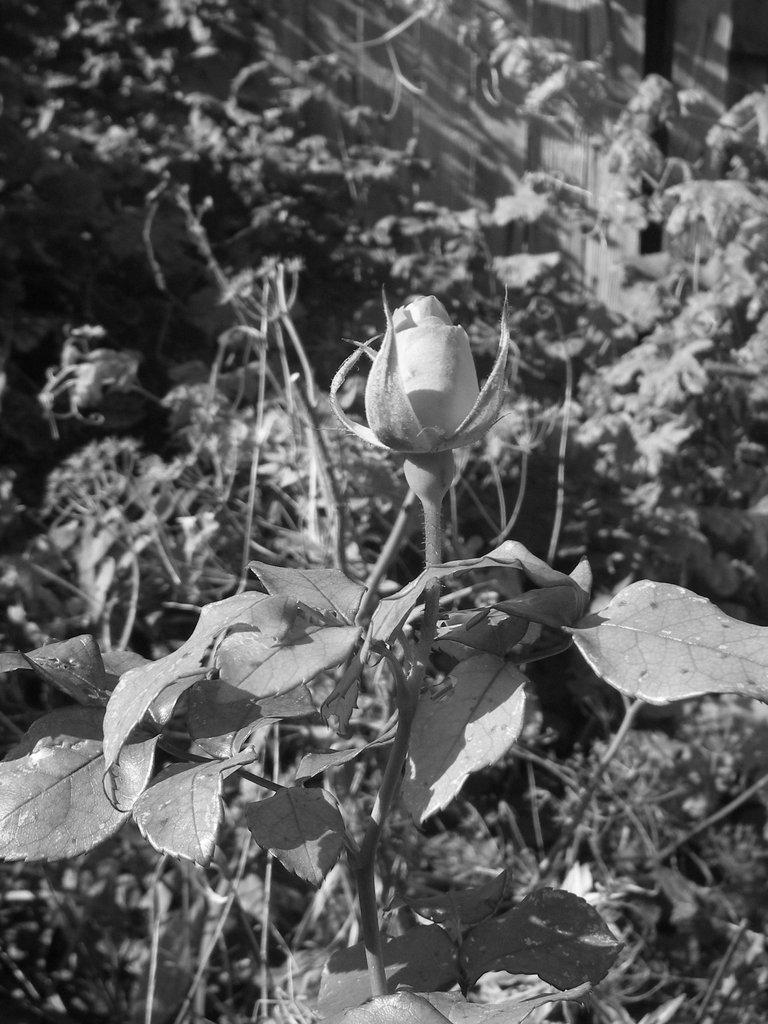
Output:
<instances>
[{"instance_id":1,"label":"curled leaf arching across the stem just below the rosebud","mask_svg":"<svg viewBox=\"0 0 768 1024\"><path fill-rule=\"evenodd\" d=\"M572 575L565 575L564 572L553 569L541 558L537 558L522 544L515 541L505 541L500 547L480 558L463 558L458 561L444 562L442 565L432 565L412 583L397 591L396 594L385 597L379 603L371 620L373 635L377 639L390 641L402 629L406 620L418 603L430 580L444 580L449 577L461 575L464 572L478 569L496 569L500 577L505 571L522 571L535 587L566 588L572 597L565 598L562 593L560 594L559 603L562 604L563 608L567 608L567 611L563 612L563 622L558 622L557 625L575 623L586 610L589 599L587 590L589 573L585 573L584 565L574 570ZM522 595L522 598L530 601L528 595ZM516 614L525 616L524 604L525 601L522 599L518 601Z\"/></svg>"}]
</instances>

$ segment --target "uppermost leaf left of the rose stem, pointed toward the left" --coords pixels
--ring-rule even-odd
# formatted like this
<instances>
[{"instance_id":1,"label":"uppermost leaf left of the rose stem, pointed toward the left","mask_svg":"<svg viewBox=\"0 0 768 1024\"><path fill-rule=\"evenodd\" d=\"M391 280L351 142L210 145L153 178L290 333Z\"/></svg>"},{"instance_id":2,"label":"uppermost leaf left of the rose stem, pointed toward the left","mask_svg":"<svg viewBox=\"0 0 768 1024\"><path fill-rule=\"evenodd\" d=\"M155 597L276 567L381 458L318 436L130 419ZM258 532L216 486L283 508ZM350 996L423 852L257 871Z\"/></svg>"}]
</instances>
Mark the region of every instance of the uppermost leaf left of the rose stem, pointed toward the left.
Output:
<instances>
[{"instance_id":1,"label":"uppermost leaf left of the rose stem, pointed toward the left","mask_svg":"<svg viewBox=\"0 0 768 1024\"><path fill-rule=\"evenodd\" d=\"M338 569L286 569L265 562L251 562L248 567L269 594L296 601L324 618L347 626L354 622L366 593L365 587Z\"/></svg>"}]
</instances>

